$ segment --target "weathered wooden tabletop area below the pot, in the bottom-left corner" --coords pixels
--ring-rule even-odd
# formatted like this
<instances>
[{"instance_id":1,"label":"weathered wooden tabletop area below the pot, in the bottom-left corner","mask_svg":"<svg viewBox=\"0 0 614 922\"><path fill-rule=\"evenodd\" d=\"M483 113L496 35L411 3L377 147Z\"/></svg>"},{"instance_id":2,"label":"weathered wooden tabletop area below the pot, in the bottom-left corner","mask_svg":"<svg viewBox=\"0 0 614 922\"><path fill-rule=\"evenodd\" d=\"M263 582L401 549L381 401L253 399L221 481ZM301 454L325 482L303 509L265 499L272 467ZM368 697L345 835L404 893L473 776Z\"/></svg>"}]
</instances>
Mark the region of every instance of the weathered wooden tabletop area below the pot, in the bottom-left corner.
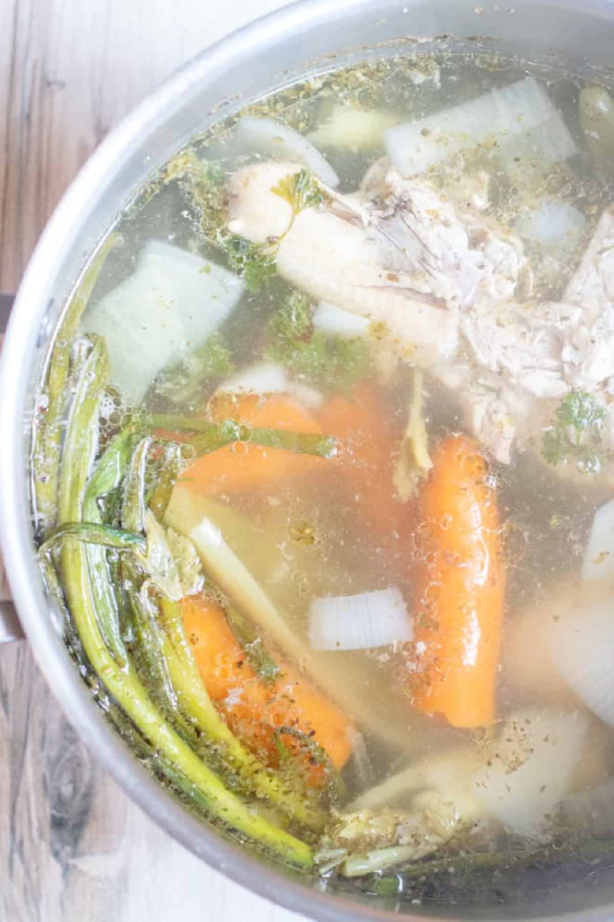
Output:
<instances>
[{"instance_id":1,"label":"weathered wooden tabletop area below the pot, in the bottom-left corner","mask_svg":"<svg viewBox=\"0 0 614 922\"><path fill-rule=\"evenodd\" d=\"M0 740L2 922L300 922L207 868L123 795L26 644L0 658Z\"/></svg>"}]
</instances>

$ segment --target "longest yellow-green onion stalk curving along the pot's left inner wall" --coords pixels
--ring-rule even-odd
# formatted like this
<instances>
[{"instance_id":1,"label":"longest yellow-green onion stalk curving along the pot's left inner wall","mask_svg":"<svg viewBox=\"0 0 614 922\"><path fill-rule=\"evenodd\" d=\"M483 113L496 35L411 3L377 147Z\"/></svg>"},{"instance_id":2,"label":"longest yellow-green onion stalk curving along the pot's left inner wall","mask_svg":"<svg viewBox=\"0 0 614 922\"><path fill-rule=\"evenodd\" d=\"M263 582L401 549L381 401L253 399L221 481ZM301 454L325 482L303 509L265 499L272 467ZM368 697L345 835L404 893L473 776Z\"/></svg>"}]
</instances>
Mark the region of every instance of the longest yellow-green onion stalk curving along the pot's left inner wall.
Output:
<instances>
[{"instance_id":1,"label":"longest yellow-green onion stalk curving along the pot's left inner wall","mask_svg":"<svg viewBox=\"0 0 614 922\"><path fill-rule=\"evenodd\" d=\"M58 526L83 523L86 509L91 513L88 483L98 444L100 397L107 384L108 360L101 340L94 340L92 349L76 376L75 395L66 424L62 464L58 480ZM58 458L59 460L59 458ZM94 475L96 476L96 475ZM58 477L57 471L55 477ZM114 479L112 479L114 482ZM90 548L70 536L64 538L60 555L60 571L64 593L76 631L91 667L110 695L121 705L139 727L141 733L159 753L159 764L170 764L168 775L181 779L184 793L205 808L210 816L223 822L237 833L249 837L276 857L302 869L312 867L312 852L306 843L267 820L253 805L244 803L229 791L222 779L209 768L190 745L181 739L151 701L139 680L130 659L118 661L122 652L118 635L108 642L108 625L116 621L115 609L106 590L98 593L94 584L108 571L98 571ZM101 607L107 607L106 610ZM100 625L107 625L105 631Z\"/></svg>"}]
</instances>

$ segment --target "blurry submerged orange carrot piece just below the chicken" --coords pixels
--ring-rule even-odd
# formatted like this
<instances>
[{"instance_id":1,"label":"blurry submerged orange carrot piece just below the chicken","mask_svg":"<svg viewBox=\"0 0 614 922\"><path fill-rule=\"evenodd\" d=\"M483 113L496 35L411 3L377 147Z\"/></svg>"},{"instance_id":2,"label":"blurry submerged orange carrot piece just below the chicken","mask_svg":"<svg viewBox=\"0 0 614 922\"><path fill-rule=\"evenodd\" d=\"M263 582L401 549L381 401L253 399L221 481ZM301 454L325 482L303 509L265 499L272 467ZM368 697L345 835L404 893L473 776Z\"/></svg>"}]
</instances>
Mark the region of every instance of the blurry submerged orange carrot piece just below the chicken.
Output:
<instances>
[{"instance_id":1,"label":"blurry submerged orange carrot piece just below the chicken","mask_svg":"<svg viewBox=\"0 0 614 922\"><path fill-rule=\"evenodd\" d=\"M332 396L319 413L322 431L342 440L335 465L360 506L365 528L375 530L378 540L400 535L410 522L392 481L401 435L386 420L387 409L369 383L358 384L349 396Z\"/></svg>"}]
</instances>

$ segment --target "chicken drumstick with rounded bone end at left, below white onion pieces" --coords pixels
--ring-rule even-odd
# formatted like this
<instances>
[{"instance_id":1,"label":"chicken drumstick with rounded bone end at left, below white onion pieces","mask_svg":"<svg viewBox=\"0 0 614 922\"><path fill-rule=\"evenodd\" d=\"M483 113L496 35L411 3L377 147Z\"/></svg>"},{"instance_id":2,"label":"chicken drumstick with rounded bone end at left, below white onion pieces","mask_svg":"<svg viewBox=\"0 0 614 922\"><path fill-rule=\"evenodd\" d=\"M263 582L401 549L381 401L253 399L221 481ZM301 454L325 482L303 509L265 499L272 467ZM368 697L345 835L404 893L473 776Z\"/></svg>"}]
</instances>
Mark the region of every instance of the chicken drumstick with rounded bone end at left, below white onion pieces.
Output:
<instances>
[{"instance_id":1,"label":"chicken drumstick with rounded bone end at left, below white onion pieces","mask_svg":"<svg viewBox=\"0 0 614 922\"><path fill-rule=\"evenodd\" d=\"M521 244L483 221L466 224L426 182L389 171L377 203L327 195L295 216L272 189L294 164L258 163L229 184L231 231L279 239L278 271L312 297L385 325L412 363L430 367L458 351L458 309L514 293Z\"/></svg>"}]
</instances>

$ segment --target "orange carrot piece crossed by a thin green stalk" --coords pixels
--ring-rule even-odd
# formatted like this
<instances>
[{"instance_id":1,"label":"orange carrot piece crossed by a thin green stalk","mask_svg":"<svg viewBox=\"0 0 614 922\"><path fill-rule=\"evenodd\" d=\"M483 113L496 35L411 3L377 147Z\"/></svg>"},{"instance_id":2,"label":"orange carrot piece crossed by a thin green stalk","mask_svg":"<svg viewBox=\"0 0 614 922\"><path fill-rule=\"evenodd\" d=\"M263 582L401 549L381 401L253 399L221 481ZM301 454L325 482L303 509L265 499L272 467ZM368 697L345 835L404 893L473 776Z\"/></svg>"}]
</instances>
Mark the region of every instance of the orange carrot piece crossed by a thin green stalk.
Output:
<instances>
[{"instance_id":1,"label":"orange carrot piece crossed by a thin green stalk","mask_svg":"<svg viewBox=\"0 0 614 922\"><path fill-rule=\"evenodd\" d=\"M213 422L233 419L247 426L321 432L307 410L287 395L221 395L210 404L210 415ZM249 490L286 475L307 474L326 464L326 458L316 455L235 442L196 458L181 481L198 493Z\"/></svg>"}]
</instances>

